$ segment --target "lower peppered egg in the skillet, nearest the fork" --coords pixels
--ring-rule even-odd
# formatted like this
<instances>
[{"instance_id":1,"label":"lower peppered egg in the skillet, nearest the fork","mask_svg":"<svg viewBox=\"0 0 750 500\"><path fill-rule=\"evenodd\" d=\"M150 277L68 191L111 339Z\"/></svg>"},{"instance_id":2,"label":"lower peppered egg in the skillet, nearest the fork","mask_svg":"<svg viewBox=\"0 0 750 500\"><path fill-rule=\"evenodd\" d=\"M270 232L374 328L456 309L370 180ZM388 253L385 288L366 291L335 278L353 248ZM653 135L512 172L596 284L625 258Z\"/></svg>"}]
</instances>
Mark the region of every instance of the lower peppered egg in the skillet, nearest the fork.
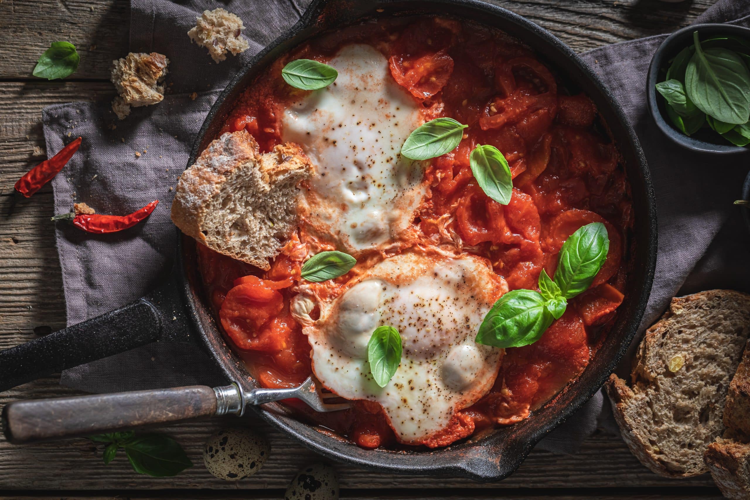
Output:
<instances>
[{"instance_id":1,"label":"lower peppered egg in the skillet, nearest the fork","mask_svg":"<svg viewBox=\"0 0 750 500\"><path fill-rule=\"evenodd\" d=\"M292 310L312 346L317 378L350 400L380 403L398 440L418 445L493 385L502 349L474 338L487 311L508 286L485 259L410 251L383 260L320 300L313 287ZM320 318L309 313L320 307ZM368 341L380 325L396 328L401 364L386 387L374 381Z\"/></svg>"}]
</instances>

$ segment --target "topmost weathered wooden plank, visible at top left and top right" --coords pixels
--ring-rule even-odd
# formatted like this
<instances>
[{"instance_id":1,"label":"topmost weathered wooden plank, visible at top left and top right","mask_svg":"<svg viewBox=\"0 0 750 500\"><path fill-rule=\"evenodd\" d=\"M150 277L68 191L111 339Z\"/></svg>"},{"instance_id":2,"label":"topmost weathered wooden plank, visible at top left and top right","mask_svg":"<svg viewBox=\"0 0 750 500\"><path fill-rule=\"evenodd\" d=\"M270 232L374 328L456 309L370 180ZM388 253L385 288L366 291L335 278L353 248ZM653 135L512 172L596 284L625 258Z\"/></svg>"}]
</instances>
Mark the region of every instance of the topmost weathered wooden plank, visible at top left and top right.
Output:
<instances>
[{"instance_id":1,"label":"topmost weathered wooden plank, visible at top left and top right","mask_svg":"<svg viewBox=\"0 0 750 500\"><path fill-rule=\"evenodd\" d=\"M490 0L491 1L491 0ZM669 4L640 0L508 0L495 3L553 31L578 51L687 25L714 0ZM127 0L5 0L0 33L13 40L0 58L0 78L33 78L37 58L56 40L77 46L74 79L108 79L114 57L127 49ZM247 21L247 19L246 19Z\"/></svg>"}]
</instances>

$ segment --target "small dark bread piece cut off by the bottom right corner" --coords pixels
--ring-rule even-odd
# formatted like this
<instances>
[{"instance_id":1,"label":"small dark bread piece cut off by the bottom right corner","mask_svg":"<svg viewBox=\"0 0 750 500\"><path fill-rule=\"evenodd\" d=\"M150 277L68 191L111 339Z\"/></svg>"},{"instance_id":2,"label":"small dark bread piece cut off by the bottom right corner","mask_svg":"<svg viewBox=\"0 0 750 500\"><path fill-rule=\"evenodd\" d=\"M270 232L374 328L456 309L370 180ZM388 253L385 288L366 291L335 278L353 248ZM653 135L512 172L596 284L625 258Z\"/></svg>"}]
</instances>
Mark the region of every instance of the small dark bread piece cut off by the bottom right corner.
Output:
<instances>
[{"instance_id":1,"label":"small dark bread piece cut off by the bottom right corner","mask_svg":"<svg viewBox=\"0 0 750 500\"><path fill-rule=\"evenodd\" d=\"M750 445L734 439L717 439L703 455L721 495L727 499L750 499Z\"/></svg>"}]
</instances>

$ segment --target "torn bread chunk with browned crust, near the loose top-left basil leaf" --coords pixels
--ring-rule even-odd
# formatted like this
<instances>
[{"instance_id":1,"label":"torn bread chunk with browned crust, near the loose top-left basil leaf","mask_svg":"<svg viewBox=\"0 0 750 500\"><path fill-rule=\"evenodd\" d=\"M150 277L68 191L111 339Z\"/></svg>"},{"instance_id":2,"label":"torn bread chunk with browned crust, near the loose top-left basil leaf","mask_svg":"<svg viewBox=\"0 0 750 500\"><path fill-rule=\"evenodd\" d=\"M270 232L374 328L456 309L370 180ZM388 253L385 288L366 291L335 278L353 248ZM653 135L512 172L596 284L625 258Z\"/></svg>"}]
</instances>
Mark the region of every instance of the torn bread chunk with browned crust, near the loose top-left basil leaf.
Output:
<instances>
[{"instance_id":1,"label":"torn bread chunk with browned crust, near the loose top-left basil leaf","mask_svg":"<svg viewBox=\"0 0 750 500\"><path fill-rule=\"evenodd\" d=\"M130 52L113 61L110 79L115 84L118 97L112 109L121 120L130 114L130 106L149 106L160 103L164 88L160 85L166 76L169 59L157 52Z\"/></svg>"}]
</instances>

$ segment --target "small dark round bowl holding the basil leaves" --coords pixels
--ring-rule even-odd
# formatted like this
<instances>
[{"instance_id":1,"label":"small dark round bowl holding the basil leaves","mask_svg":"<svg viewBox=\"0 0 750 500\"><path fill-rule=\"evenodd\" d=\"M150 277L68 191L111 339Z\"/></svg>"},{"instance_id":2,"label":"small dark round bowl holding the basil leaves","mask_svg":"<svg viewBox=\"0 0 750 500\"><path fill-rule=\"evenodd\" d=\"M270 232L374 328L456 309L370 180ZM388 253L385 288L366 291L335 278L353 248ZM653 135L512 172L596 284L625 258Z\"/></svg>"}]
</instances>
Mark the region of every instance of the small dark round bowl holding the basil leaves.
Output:
<instances>
[{"instance_id":1,"label":"small dark round bowl holding the basil leaves","mask_svg":"<svg viewBox=\"0 0 750 500\"><path fill-rule=\"evenodd\" d=\"M750 151L750 148L733 145L727 140L722 139L718 133L707 128L697 131L697 133L694 133L692 136L686 136L684 133L677 130L672 126L672 123L667 116L664 98L656 91L655 85L664 80L662 69L667 67L669 61L674 58L680 50L684 49L686 46L692 45L693 31L696 30L701 39L715 35L733 35L750 40L750 29L728 24L690 25L670 34L670 36L661 42L661 45L658 46L656 52L654 52L651 64L649 65L649 73L648 76L646 76L646 100L648 101L649 112L651 112L651 116L661 131L664 132L667 137L672 139L673 142L676 142L683 148L713 154L747 153Z\"/></svg>"}]
</instances>

